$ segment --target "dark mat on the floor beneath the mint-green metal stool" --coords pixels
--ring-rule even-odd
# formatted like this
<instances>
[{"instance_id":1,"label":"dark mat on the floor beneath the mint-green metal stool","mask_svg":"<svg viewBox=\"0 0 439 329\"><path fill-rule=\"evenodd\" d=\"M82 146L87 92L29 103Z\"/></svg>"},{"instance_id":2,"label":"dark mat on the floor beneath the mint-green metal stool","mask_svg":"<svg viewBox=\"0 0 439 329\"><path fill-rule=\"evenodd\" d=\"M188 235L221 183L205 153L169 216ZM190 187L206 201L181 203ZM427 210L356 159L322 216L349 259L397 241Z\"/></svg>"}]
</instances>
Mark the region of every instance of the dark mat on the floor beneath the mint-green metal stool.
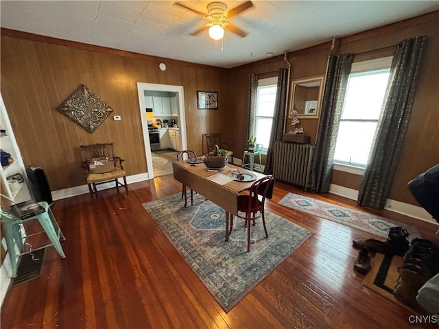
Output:
<instances>
[{"instance_id":1,"label":"dark mat on the floor beneath the mint-green metal stool","mask_svg":"<svg viewBox=\"0 0 439 329\"><path fill-rule=\"evenodd\" d=\"M19 258L19 267L16 270L16 278L12 278L11 286L22 284L29 280L38 278L41 272L41 265L43 265L45 249L38 249L32 254L24 254Z\"/></svg>"}]
</instances>

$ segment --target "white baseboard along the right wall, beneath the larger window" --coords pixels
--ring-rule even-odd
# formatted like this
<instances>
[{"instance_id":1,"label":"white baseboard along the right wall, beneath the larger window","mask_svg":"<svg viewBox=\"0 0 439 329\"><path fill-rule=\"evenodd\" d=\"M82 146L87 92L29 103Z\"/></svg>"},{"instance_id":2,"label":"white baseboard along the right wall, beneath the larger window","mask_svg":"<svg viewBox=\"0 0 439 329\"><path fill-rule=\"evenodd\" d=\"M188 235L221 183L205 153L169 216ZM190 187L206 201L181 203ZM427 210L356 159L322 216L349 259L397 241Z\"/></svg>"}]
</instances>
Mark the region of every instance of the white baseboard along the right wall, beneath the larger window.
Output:
<instances>
[{"instance_id":1,"label":"white baseboard along the right wall, beneath the larger window","mask_svg":"<svg viewBox=\"0 0 439 329\"><path fill-rule=\"evenodd\" d=\"M329 186L329 193L340 195L348 199L357 200L359 191L354 190L353 188L347 188L344 186L331 184ZM387 201L385 202L384 209L397 212L401 215L406 215L416 219L420 219L421 221L427 221L429 223L434 223L435 225L439 225L436 222L436 220L433 217L431 217L431 215L427 212L427 210L425 210L422 207L415 206L414 204L406 204L405 202L387 199Z\"/></svg>"}]
</instances>

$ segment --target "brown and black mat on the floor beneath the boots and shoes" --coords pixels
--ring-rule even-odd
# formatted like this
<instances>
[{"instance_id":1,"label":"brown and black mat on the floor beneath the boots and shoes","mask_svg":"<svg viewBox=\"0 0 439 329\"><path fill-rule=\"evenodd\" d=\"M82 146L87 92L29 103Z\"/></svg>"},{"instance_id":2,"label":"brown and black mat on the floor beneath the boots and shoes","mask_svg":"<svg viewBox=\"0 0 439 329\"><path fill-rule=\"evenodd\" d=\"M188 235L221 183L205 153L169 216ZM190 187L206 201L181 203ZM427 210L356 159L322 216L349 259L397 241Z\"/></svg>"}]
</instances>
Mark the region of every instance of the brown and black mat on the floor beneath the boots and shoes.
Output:
<instances>
[{"instance_id":1,"label":"brown and black mat on the floor beneath the boots and shoes","mask_svg":"<svg viewBox=\"0 0 439 329\"><path fill-rule=\"evenodd\" d=\"M393 295L396 280L399 278L399 267L403 266L404 260L401 256L375 254L372 258L372 267L366 274L363 284L368 289L379 293L379 295L398 304L399 306L413 311L413 308L397 300Z\"/></svg>"}]
</instances>

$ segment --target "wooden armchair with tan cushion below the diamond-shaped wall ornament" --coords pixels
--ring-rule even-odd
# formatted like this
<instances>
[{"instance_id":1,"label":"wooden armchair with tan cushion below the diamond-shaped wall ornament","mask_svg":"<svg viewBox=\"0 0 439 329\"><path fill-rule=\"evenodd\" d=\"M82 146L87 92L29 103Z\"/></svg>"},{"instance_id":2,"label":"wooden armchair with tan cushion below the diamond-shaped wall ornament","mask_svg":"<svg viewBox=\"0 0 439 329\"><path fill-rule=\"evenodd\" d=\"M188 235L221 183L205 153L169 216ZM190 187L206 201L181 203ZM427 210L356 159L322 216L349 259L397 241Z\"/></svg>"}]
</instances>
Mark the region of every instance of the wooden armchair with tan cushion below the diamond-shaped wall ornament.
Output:
<instances>
[{"instance_id":1,"label":"wooden armchair with tan cushion below the diamond-shaped wall ornament","mask_svg":"<svg viewBox=\"0 0 439 329\"><path fill-rule=\"evenodd\" d=\"M85 179L92 195L97 193L96 185L112 180L115 181L117 191L119 191L119 186L123 186L128 195L126 172L122 164L124 160L115 156L114 143L81 145L80 151ZM123 179L123 184L119 182L119 178Z\"/></svg>"}]
</instances>

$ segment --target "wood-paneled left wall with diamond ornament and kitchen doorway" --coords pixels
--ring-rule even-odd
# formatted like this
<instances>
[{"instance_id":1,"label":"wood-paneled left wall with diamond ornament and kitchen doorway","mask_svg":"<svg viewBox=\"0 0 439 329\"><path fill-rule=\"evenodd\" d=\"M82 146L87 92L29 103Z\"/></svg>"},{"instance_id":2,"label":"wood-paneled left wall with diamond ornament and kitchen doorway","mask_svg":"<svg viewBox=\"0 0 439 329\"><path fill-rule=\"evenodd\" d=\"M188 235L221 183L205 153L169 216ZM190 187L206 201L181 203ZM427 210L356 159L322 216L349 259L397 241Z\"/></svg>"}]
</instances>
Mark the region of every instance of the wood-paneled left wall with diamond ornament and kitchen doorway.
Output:
<instances>
[{"instance_id":1,"label":"wood-paneled left wall with diamond ornament and kitchen doorway","mask_svg":"<svg viewBox=\"0 0 439 329\"><path fill-rule=\"evenodd\" d=\"M78 147L115 142L128 175L145 173L145 149L137 82L185 88L187 144L202 152L202 134L219 132L226 115L228 73L224 69L1 30L1 95L25 165L45 169L52 190L85 184ZM160 62L167 70L158 69ZM120 115L93 134L56 107L85 84ZM196 90L216 90L218 110L198 110Z\"/></svg>"}]
</instances>

